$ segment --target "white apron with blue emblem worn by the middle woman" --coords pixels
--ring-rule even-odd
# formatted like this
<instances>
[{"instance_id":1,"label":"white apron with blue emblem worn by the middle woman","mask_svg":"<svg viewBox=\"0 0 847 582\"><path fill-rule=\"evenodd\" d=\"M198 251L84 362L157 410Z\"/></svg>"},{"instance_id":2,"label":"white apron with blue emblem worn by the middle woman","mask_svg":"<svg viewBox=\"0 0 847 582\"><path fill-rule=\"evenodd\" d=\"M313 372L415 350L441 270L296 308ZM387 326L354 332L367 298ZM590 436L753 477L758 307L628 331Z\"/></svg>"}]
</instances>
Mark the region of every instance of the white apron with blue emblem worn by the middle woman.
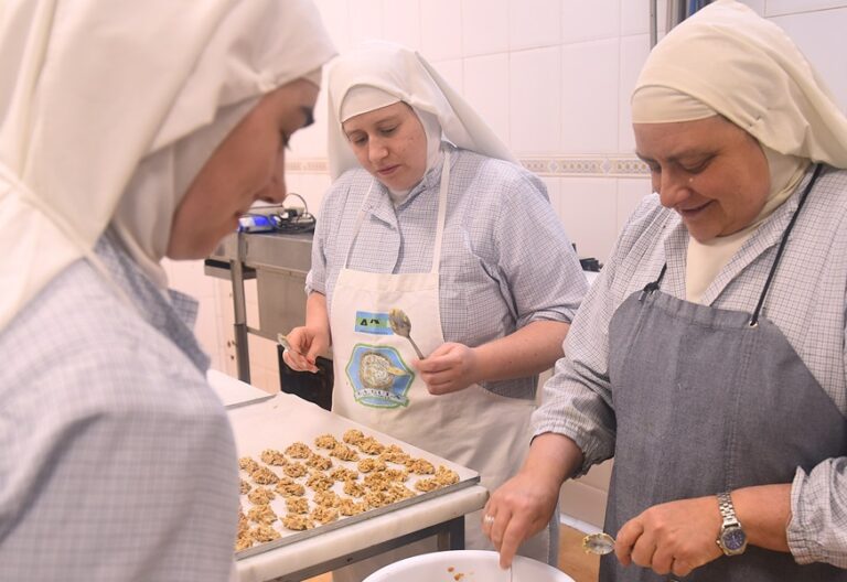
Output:
<instances>
[{"instance_id":1,"label":"white apron with blue emblem worn by the middle woman","mask_svg":"<svg viewBox=\"0 0 847 582\"><path fill-rule=\"evenodd\" d=\"M524 461L532 434L529 416L534 402L497 396L475 384L459 392L430 395L409 364L417 357L411 343L395 335L388 325L388 312L401 309L411 322L411 337L425 356L444 343L438 283L449 181L450 154L447 153L432 266L424 273L347 269L371 192L365 196L330 310L335 373L332 410L473 468L480 473L482 485L494 491L517 473ZM465 547L493 549L482 534L480 514L465 518ZM424 540L339 570L333 573L333 580L358 581L384 564L435 550L435 538ZM549 552L549 532L543 531L525 542L519 553L548 562Z\"/></svg>"}]
</instances>

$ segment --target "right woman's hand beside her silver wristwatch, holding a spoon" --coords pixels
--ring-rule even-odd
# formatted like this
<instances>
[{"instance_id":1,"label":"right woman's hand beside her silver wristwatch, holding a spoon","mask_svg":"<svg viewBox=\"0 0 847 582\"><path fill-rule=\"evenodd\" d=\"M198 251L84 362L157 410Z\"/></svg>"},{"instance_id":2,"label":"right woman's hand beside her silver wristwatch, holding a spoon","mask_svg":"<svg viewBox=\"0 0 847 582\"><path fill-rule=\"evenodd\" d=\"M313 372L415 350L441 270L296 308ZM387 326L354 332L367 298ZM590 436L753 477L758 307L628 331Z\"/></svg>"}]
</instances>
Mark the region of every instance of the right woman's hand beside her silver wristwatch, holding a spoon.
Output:
<instances>
[{"instance_id":1,"label":"right woman's hand beside her silver wristwatch, holding a spoon","mask_svg":"<svg viewBox=\"0 0 847 582\"><path fill-rule=\"evenodd\" d=\"M623 565L685 576L722 556L715 542L720 524L715 496L654 505L621 527L614 553Z\"/></svg>"}]
</instances>

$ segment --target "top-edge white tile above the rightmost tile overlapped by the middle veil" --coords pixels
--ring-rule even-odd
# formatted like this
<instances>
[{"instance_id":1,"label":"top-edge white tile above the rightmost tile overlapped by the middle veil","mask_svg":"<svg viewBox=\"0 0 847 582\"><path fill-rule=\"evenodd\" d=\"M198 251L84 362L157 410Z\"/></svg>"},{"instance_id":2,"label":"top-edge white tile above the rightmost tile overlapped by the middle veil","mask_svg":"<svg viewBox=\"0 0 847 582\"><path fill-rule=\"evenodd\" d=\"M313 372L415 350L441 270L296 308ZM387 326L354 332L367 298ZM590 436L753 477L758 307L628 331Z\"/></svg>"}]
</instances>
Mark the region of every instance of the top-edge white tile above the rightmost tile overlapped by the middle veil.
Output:
<instances>
[{"instance_id":1,"label":"top-edge white tile above the rightmost tile overlapped by the middle veil","mask_svg":"<svg viewBox=\"0 0 847 582\"><path fill-rule=\"evenodd\" d=\"M462 54L508 51L508 0L461 0Z\"/></svg>"}]
</instances>

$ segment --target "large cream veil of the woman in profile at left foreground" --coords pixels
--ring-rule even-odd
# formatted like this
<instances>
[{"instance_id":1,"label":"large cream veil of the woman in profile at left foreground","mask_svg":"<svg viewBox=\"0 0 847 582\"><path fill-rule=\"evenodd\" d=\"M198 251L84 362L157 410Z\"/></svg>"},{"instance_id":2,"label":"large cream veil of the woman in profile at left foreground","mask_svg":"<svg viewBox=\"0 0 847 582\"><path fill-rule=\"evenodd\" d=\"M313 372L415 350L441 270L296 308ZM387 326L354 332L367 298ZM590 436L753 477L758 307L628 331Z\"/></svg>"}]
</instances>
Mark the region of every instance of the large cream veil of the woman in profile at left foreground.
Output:
<instances>
[{"instance_id":1,"label":"large cream veil of the woman in profile at left foreground","mask_svg":"<svg viewBox=\"0 0 847 582\"><path fill-rule=\"evenodd\" d=\"M111 224L153 280L191 180L258 98L334 54L309 0L7 0L0 328Z\"/></svg>"}]
</instances>

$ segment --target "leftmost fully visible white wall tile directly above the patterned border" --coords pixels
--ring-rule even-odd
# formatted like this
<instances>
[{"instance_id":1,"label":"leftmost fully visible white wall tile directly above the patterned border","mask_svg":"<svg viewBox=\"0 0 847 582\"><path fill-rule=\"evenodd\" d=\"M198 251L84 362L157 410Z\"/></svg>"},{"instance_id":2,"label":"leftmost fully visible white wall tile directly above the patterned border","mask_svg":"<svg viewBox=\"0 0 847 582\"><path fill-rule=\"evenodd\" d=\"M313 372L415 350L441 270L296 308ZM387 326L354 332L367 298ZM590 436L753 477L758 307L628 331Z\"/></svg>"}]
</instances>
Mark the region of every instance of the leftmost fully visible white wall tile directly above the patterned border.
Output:
<instances>
[{"instance_id":1,"label":"leftmost fully visible white wall tile directly above the patterned border","mask_svg":"<svg viewBox=\"0 0 847 582\"><path fill-rule=\"evenodd\" d=\"M560 146L561 68L559 48L512 53L510 136L516 154L555 152Z\"/></svg>"}]
</instances>

